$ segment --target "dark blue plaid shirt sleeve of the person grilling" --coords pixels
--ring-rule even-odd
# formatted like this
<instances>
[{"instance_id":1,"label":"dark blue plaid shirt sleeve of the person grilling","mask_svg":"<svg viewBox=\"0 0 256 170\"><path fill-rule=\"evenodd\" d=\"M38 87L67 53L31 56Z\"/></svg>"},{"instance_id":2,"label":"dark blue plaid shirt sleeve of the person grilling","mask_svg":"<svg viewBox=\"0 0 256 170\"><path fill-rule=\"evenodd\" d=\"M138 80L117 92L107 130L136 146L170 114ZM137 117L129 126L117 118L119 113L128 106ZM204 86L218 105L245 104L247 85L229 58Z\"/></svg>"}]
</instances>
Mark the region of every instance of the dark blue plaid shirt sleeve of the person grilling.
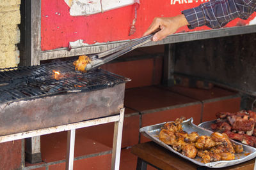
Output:
<instances>
[{"instance_id":1,"label":"dark blue plaid shirt sleeve of the person grilling","mask_svg":"<svg viewBox=\"0 0 256 170\"><path fill-rule=\"evenodd\" d=\"M213 29L223 27L235 18L247 19L256 11L256 0L211 0L182 13L189 29L206 25Z\"/></svg>"}]
</instances>

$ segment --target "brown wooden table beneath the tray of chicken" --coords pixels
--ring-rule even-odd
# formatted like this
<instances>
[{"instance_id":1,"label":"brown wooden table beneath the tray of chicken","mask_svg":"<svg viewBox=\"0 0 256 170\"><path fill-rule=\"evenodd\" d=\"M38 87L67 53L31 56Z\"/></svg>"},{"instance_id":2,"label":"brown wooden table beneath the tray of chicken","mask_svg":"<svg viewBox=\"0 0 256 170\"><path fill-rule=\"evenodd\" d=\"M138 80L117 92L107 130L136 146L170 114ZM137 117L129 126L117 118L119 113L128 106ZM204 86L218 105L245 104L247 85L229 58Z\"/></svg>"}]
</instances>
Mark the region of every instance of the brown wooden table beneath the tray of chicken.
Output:
<instances>
[{"instance_id":1,"label":"brown wooden table beneath the tray of chicken","mask_svg":"<svg viewBox=\"0 0 256 170\"><path fill-rule=\"evenodd\" d=\"M147 143L141 143L132 147L131 152L138 156L137 170L147 169L147 164L156 167L157 169L211 169L208 167L202 167L189 162L179 155L166 150L162 146L150 141ZM236 169L236 170L250 170L254 167L255 159L249 160L242 164L237 164L235 166L219 168L223 169Z\"/></svg>"}]
</instances>

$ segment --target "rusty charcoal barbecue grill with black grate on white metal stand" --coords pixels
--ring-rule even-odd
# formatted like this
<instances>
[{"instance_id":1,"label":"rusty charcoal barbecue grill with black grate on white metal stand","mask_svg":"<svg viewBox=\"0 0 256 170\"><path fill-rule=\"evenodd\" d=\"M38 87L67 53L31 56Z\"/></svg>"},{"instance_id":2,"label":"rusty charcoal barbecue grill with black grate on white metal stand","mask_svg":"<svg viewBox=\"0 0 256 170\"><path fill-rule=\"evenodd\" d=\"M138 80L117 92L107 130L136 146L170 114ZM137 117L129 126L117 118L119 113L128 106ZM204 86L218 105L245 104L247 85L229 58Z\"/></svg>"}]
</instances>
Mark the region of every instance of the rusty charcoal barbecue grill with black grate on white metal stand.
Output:
<instances>
[{"instance_id":1,"label":"rusty charcoal barbecue grill with black grate on white metal stand","mask_svg":"<svg viewBox=\"0 0 256 170\"><path fill-rule=\"evenodd\" d=\"M118 169L129 78L75 71L72 62L0 69L0 142L68 131L66 169L72 169L75 129L116 122L112 167Z\"/></svg>"}]
</instances>

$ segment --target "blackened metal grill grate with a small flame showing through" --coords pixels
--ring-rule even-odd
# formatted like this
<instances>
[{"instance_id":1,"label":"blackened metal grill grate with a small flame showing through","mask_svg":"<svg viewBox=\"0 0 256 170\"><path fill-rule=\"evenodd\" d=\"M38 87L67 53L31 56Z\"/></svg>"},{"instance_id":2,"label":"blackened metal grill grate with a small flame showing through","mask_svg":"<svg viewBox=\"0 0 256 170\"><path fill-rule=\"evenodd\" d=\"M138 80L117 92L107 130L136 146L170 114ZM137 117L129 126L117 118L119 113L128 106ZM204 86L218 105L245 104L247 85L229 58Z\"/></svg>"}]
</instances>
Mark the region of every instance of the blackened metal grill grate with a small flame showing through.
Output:
<instances>
[{"instance_id":1,"label":"blackened metal grill grate with a small flame showing through","mask_svg":"<svg viewBox=\"0 0 256 170\"><path fill-rule=\"evenodd\" d=\"M72 62L0 69L0 103L100 90L130 81L129 78L102 69L81 73L74 70Z\"/></svg>"}]
</instances>

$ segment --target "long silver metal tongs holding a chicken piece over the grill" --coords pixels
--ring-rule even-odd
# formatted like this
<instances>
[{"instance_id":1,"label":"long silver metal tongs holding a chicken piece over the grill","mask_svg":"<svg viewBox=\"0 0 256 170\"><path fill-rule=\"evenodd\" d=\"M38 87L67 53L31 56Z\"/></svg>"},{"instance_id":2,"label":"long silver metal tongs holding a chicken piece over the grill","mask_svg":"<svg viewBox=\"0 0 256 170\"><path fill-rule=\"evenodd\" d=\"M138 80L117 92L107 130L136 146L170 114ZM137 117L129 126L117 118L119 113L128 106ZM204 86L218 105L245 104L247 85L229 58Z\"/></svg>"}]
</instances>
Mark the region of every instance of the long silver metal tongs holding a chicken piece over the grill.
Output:
<instances>
[{"instance_id":1,"label":"long silver metal tongs holding a chicken piece over the grill","mask_svg":"<svg viewBox=\"0 0 256 170\"><path fill-rule=\"evenodd\" d=\"M84 68L86 71L90 69L101 66L102 64L106 64L107 62L124 55L127 52L131 52L135 48L138 48L141 45L145 45L150 42L153 38L154 34L150 34L148 36L144 36L142 38L135 39L132 42L126 43L124 45L117 46L116 48L112 48L107 50L106 52L97 53L90 57L91 62L86 65Z\"/></svg>"}]
</instances>

